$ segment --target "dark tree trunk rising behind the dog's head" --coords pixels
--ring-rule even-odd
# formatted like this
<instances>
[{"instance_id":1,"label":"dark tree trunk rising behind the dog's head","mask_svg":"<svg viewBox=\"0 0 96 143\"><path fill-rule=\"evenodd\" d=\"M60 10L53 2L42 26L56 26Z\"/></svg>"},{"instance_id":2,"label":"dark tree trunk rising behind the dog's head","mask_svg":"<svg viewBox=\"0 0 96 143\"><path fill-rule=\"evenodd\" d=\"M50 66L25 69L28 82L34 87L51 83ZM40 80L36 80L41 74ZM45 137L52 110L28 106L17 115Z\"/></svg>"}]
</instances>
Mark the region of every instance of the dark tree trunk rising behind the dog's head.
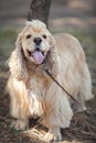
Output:
<instances>
[{"instance_id":1,"label":"dark tree trunk rising behind the dog's head","mask_svg":"<svg viewBox=\"0 0 96 143\"><path fill-rule=\"evenodd\" d=\"M52 0L32 0L28 20L39 19L47 25L51 1Z\"/></svg>"}]
</instances>

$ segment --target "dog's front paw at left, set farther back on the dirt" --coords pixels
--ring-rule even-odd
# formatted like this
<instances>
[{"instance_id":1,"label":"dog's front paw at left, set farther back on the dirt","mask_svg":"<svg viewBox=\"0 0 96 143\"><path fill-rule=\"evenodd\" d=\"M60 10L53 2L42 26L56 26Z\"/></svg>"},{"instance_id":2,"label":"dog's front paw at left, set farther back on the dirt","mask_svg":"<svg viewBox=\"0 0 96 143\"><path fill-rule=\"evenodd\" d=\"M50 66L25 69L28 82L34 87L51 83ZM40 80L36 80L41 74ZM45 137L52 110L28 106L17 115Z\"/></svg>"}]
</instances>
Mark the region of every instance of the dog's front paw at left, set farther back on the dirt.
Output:
<instances>
[{"instance_id":1,"label":"dog's front paw at left, set farther back on the dirt","mask_svg":"<svg viewBox=\"0 0 96 143\"><path fill-rule=\"evenodd\" d=\"M19 131L24 130L26 128L28 121L26 120L17 120L11 123L11 128Z\"/></svg>"}]
</instances>

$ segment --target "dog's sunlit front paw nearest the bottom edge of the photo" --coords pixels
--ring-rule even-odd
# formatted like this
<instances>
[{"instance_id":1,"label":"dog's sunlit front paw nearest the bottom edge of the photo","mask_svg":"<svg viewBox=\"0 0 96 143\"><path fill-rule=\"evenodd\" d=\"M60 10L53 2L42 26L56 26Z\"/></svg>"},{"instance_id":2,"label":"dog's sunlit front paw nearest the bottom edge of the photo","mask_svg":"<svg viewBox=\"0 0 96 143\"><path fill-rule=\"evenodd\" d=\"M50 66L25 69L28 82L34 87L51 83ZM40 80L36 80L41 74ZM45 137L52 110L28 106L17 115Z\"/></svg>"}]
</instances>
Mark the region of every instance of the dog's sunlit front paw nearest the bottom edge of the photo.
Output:
<instances>
[{"instance_id":1,"label":"dog's sunlit front paw nearest the bottom edge of the photo","mask_svg":"<svg viewBox=\"0 0 96 143\"><path fill-rule=\"evenodd\" d=\"M45 142L58 142L62 140L60 131L50 130L44 138Z\"/></svg>"}]
</instances>

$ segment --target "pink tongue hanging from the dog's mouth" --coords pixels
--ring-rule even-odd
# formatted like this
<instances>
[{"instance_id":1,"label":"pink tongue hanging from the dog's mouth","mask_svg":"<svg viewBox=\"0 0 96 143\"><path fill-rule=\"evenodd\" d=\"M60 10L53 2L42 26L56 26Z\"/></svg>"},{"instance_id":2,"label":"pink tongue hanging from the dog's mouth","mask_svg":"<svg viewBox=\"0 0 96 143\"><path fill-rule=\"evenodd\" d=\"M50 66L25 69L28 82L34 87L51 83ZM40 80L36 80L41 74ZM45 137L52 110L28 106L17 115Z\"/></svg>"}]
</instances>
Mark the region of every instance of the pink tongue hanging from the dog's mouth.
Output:
<instances>
[{"instance_id":1,"label":"pink tongue hanging from the dog's mouth","mask_svg":"<svg viewBox=\"0 0 96 143\"><path fill-rule=\"evenodd\" d=\"M44 59L44 55L42 54L42 52L35 51L32 55L35 58L38 64L42 64L42 62Z\"/></svg>"}]
</instances>

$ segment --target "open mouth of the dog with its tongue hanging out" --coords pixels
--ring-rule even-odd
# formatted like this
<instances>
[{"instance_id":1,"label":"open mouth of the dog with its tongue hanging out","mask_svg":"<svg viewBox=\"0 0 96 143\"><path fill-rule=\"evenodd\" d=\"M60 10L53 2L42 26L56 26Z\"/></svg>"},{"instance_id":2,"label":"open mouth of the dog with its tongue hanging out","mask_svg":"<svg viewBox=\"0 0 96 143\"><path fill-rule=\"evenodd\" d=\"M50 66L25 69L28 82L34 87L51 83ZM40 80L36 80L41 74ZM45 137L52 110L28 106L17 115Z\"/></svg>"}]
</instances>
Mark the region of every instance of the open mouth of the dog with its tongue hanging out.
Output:
<instances>
[{"instance_id":1,"label":"open mouth of the dog with its tongue hanging out","mask_svg":"<svg viewBox=\"0 0 96 143\"><path fill-rule=\"evenodd\" d=\"M38 64L42 64L45 58L45 52L42 52L40 48L31 52L28 50L29 56L31 56Z\"/></svg>"}]
</instances>

